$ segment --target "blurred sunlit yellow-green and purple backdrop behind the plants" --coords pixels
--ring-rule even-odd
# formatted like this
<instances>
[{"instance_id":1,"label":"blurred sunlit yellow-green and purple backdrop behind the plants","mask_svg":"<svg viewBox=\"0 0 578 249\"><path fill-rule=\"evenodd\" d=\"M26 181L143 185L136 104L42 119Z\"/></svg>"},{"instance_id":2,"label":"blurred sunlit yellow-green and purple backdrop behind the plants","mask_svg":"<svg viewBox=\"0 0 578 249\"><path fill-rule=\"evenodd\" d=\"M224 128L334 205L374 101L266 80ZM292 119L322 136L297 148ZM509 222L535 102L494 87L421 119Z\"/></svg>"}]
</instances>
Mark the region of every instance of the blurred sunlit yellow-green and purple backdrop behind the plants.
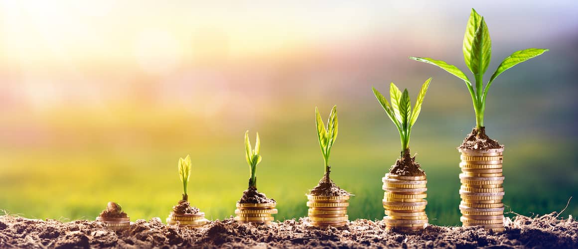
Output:
<instances>
[{"instance_id":1,"label":"blurred sunlit yellow-green and purple backdrop behind the plants","mask_svg":"<svg viewBox=\"0 0 578 249\"><path fill-rule=\"evenodd\" d=\"M380 219L381 177L401 146L371 87L386 94L394 81L413 105L433 77L410 147L427 172L429 222L459 225L456 147L475 125L471 98L407 57L473 79L462 54L472 7L492 39L486 79L514 51L550 49L494 81L485 122L506 146L506 211L560 211L578 198L576 1L1 2L0 210L92 220L114 201L133 221L164 220L190 154L192 204L227 218L249 179L249 129L262 140L258 189L277 219L303 217L323 175L314 109L337 105L332 179L355 195L350 220Z\"/></svg>"}]
</instances>

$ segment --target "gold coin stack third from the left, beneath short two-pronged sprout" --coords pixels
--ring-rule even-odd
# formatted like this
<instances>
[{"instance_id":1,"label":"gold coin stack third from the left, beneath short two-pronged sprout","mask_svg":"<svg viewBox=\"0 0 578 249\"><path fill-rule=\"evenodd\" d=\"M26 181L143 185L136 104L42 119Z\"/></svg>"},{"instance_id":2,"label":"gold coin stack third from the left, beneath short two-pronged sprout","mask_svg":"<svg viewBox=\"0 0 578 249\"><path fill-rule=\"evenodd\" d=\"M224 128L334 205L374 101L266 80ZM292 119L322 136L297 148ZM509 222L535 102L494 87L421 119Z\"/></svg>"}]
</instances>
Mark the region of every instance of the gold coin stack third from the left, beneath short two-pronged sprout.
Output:
<instances>
[{"instance_id":1,"label":"gold coin stack third from the left, beneath short two-pronged sprout","mask_svg":"<svg viewBox=\"0 0 578 249\"><path fill-rule=\"evenodd\" d=\"M272 214L277 213L275 209L276 202L269 203L239 203L237 202L237 209L235 210L235 221L242 223L258 223L265 224L274 220Z\"/></svg>"}]
</instances>

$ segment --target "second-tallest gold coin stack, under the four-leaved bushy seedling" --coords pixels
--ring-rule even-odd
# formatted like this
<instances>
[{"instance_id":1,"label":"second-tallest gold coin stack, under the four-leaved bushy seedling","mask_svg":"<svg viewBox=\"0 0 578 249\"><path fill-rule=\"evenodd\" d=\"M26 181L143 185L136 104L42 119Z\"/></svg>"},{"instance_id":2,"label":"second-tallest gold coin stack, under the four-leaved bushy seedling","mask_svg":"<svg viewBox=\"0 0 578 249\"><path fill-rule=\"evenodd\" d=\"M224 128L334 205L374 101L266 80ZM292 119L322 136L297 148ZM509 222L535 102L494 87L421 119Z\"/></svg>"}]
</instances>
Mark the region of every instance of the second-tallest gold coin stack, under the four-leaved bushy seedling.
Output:
<instances>
[{"instance_id":1,"label":"second-tallest gold coin stack, under the four-leaved bushy seedling","mask_svg":"<svg viewBox=\"0 0 578 249\"><path fill-rule=\"evenodd\" d=\"M383 177L383 217L388 229L400 232L421 231L428 224L424 198L427 196L425 176L398 176L387 173Z\"/></svg>"}]
</instances>

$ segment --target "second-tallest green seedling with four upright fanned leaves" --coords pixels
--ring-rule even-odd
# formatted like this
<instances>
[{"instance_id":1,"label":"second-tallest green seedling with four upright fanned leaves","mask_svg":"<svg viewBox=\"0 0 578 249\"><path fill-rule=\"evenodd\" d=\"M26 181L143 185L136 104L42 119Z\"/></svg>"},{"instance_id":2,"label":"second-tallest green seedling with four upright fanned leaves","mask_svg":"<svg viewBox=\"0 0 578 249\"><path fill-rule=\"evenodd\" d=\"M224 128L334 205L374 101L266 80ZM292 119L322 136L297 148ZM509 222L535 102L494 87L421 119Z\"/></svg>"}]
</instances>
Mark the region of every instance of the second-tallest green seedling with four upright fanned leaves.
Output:
<instances>
[{"instance_id":1,"label":"second-tallest green seedling with four upright fanned leaves","mask_svg":"<svg viewBox=\"0 0 578 249\"><path fill-rule=\"evenodd\" d=\"M429 81L431 80L432 78L427 79L423 86L421 86L420 94L417 95L416 105L413 107L413 112L407 89L403 90L402 93L394 83L391 83L390 105L390 102L388 102L379 91L373 88L373 94L375 94L375 98L377 98L377 101L379 101L381 107L386 110L387 116L390 117L391 121L394 122L395 127L399 131L402 158L404 155L409 156L409 136L412 133L412 127L416 123L417 117L420 115L421 104L424 102L425 92L428 91Z\"/></svg>"}]
</instances>

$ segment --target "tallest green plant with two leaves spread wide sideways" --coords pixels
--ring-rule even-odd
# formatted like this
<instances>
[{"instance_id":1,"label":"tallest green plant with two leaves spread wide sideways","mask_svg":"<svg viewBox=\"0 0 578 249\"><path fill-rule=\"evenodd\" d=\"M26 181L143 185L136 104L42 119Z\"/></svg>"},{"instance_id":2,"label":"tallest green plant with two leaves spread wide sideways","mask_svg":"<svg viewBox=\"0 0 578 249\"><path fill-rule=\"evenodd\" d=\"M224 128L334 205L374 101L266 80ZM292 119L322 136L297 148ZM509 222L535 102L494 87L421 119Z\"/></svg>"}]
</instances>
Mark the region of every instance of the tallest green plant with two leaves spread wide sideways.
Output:
<instances>
[{"instance_id":1,"label":"tallest green plant with two leaves spread wide sideways","mask_svg":"<svg viewBox=\"0 0 578 249\"><path fill-rule=\"evenodd\" d=\"M476 86L472 86L471 81L468 76L465 75L460 69L454 65L447 64L444 61L433 60L432 58L420 58L420 57L409 57L412 60L425 62L428 64L436 65L451 73L452 75L464 80L466 87L472 95L473 109L476 112L476 131L477 135L481 134L484 127L484 110L486 110L486 96L488 95L488 90L492 85L492 82L501 75L505 70L512 68L513 66L520 64L521 62L530 60L540 54L543 54L547 49L525 49L514 52L512 55L506 57L502 63L495 70L494 74L490 77L486 84L486 88L483 87L483 76L490 65L490 57L492 54L490 32L488 32L488 27L484 17L480 16L476 10L472 9L470 14L468 25L466 26L466 32L464 35L464 45L462 47L464 51L464 61L468 66L469 70L473 73Z\"/></svg>"}]
</instances>

